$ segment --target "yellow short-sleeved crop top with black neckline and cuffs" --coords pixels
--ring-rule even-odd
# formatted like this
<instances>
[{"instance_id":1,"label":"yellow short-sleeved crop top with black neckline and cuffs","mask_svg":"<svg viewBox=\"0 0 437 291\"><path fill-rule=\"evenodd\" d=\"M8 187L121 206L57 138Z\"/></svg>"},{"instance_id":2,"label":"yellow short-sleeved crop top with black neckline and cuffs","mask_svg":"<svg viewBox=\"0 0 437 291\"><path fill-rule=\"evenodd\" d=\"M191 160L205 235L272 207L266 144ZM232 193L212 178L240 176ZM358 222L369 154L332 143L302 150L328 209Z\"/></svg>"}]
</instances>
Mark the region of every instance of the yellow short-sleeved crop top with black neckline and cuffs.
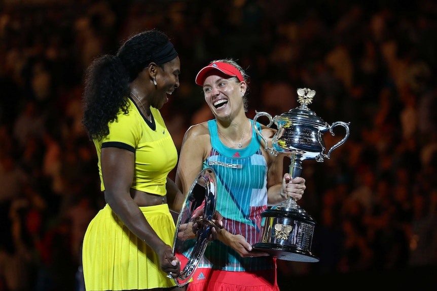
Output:
<instances>
[{"instance_id":1,"label":"yellow short-sleeved crop top with black neckline and cuffs","mask_svg":"<svg viewBox=\"0 0 437 291\"><path fill-rule=\"evenodd\" d=\"M168 173L177 163L177 150L158 109L150 107L155 130L149 126L129 98L129 113L120 111L118 119L109 123L110 133L101 141L94 140L100 174L100 189L104 191L100 153L102 147L118 147L135 153L135 170L131 188L164 196Z\"/></svg>"}]
</instances>

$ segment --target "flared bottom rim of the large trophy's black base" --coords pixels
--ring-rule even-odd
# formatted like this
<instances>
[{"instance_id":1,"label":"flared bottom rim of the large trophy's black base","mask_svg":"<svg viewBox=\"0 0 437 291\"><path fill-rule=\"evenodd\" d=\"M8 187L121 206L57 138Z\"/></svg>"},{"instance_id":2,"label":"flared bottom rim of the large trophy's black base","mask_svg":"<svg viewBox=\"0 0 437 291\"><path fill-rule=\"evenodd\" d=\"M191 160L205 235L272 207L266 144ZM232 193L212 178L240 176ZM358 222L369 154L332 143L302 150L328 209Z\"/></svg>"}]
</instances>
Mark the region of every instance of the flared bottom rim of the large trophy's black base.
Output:
<instances>
[{"instance_id":1,"label":"flared bottom rim of the large trophy's black base","mask_svg":"<svg viewBox=\"0 0 437 291\"><path fill-rule=\"evenodd\" d=\"M269 253L278 260L307 263L315 263L319 261L317 257L311 254L311 252L293 246L258 242L253 245L253 250Z\"/></svg>"}]
</instances>

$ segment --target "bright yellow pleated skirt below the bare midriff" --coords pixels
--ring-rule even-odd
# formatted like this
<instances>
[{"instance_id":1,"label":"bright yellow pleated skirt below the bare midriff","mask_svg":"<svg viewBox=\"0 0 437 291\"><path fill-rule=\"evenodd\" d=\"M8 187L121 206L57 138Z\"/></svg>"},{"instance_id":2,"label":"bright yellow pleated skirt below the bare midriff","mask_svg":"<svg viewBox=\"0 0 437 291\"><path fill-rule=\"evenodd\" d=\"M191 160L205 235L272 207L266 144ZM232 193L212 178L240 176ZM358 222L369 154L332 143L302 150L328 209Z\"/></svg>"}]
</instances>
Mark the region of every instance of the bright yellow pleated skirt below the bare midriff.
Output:
<instances>
[{"instance_id":1,"label":"bright yellow pleated skirt below the bare midriff","mask_svg":"<svg viewBox=\"0 0 437 291\"><path fill-rule=\"evenodd\" d=\"M144 217L168 245L175 224L167 204L140 207ZM152 289L175 286L159 267L150 246L134 235L106 204L88 225L82 251L87 291Z\"/></svg>"}]
</instances>

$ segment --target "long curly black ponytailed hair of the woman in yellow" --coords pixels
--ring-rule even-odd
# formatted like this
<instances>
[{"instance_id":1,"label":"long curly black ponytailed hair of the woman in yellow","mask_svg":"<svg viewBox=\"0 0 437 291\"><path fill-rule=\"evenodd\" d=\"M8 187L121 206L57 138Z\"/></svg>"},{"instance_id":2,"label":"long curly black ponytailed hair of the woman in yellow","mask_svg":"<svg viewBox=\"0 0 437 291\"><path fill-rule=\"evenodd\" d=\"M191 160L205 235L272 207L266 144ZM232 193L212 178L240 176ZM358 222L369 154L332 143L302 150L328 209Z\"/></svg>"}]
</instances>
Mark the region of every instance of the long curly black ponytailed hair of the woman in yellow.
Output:
<instances>
[{"instance_id":1,"label":"long curly black ponytailed hair of the woman in yellow","mask_svg":"<svg viewBox=\"0 0 437 291\"><path fill-rule=\"evenodd\" d=\"M144 31L126 40L117 55L102 55L87 68L82 124L90 139L101 140L108 135L108 123L117 119L119 110L128 113L130 82L168 41L161 31Z\"/></svg>"}]
</instances>

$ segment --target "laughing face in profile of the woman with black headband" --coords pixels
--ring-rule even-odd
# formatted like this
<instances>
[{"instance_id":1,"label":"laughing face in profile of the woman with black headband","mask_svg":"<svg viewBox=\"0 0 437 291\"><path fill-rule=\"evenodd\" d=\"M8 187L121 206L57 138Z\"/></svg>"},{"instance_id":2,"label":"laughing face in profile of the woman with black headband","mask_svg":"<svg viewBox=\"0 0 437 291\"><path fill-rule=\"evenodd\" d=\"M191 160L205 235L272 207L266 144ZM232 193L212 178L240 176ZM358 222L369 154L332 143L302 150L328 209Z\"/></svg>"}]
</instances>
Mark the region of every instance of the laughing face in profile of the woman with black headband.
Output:
<instances>
[{"instance_id":1,"label":"laughing face in profile of the woman with black headband","mask_svg":"<svg viewBox=\"0 0 437 291\"><path fill-rule=\"evenodd\" d=\"M152 99L151 105L157 109L168 102L168 96L171 95L176 88L179 87L180 60L179 57L158 66L156 74L156 94Z\"/></svg>"}]
</instances>

